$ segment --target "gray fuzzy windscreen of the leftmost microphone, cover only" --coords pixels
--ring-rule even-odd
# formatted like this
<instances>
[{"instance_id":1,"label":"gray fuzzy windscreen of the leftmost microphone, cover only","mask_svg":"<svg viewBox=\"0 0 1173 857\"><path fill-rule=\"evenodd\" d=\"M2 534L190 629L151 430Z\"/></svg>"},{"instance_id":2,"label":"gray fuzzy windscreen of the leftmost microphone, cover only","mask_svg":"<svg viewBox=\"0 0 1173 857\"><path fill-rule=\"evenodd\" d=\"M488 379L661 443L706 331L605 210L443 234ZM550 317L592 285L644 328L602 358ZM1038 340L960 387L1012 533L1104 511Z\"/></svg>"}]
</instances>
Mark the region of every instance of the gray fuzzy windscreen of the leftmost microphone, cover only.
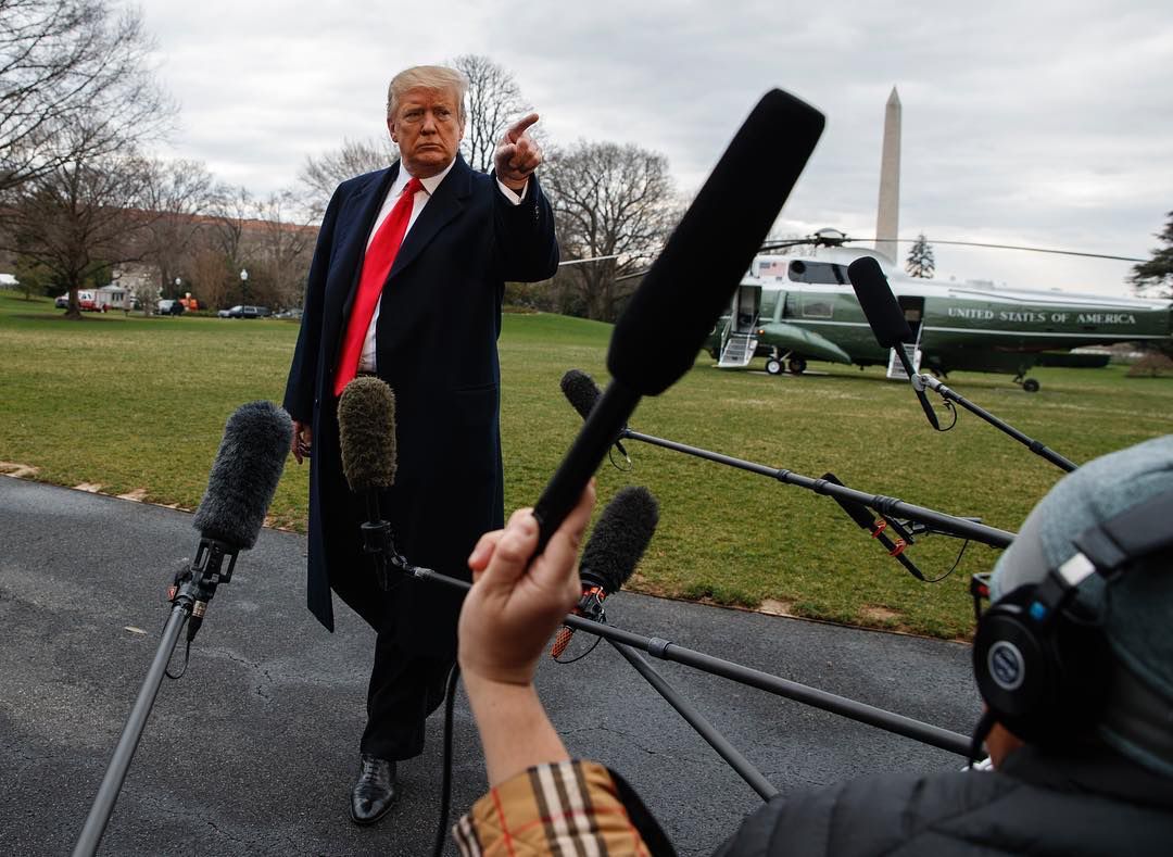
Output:
<instances>
[{"instance_id":1,"label":"gray fuzzy windscreen of the leftmost microphone, cover only","mask_svg":"<svg viewBox=\"0 0 1173 857\"><path fill-rule=\"evenodd\" d=\"M257 543L292 440L289 414L272 402L249 402L232 413L192 522L202 536L235 547Z\"/></svg>"}]
</instances>

